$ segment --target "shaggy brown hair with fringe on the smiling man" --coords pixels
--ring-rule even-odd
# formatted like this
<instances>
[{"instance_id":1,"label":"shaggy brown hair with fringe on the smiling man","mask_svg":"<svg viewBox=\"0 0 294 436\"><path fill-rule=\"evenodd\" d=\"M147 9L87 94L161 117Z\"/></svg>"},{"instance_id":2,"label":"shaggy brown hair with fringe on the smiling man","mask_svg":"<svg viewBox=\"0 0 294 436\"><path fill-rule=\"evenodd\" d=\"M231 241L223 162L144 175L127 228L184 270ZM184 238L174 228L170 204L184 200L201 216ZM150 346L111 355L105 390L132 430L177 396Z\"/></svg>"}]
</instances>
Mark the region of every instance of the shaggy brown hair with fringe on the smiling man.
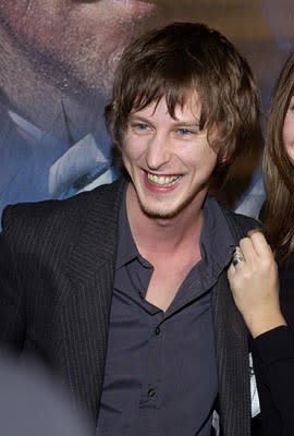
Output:
<instances>
[{"instance_id":1,"label":"shaggy brown hair with fringe on the smiling man","mask_svg":"<svg viewBox=\"0 0 294 436\"><path fill-rule=\"evenodd\" d=\"M247 61L218 31L174 23L135 40L119 62L106 123L120 148L131 111L166 98L174 117L175 107L183 107L195 89L201 100L200 129L207 129L219 153L213 175L220 186L259 129L259 95Z\"/></svg>"}]
</instances>

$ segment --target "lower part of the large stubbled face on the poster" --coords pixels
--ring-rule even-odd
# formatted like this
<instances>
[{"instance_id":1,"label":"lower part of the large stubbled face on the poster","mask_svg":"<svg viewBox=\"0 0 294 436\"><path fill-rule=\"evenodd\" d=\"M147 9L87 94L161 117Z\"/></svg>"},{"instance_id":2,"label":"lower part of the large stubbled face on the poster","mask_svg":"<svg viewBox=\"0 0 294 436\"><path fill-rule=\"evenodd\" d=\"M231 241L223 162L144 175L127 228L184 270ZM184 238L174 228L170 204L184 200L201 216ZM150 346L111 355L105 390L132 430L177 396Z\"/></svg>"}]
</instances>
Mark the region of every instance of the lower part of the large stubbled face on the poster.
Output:
<instances>
[{"instance_id":1,"label":"lower part of the large stubbled face on the poster","mask_svg":"<svg viewBox=\"0 0 294 436\"><path fill-rule=\"evenodd\" d=\"M0 16L35 69L85 93L109 92L124 47L156 5L136 0L0 0Z\"/></svg>"}]
</instances>

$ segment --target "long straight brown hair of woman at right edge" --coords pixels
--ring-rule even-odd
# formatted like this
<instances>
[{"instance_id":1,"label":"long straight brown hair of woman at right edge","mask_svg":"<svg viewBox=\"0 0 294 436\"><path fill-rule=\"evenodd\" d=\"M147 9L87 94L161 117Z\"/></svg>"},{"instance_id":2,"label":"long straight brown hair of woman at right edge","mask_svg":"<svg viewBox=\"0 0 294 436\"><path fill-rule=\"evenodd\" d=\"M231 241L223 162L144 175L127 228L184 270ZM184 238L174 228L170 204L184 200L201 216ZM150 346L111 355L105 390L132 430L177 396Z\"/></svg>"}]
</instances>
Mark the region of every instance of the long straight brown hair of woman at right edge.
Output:
<instances>
[{"instance_id":1,"label":"long straight brown hair of woman at right edge","mask_svg":"<svg viewBox=\"0 0 294 436\"><path fill-rule=\"evenodd\" d=\"M265 229L281 262L294 251L294 168L283 144L283 125L294 95L294 52L278 78L268 116L264 152Z\"/></svg>"}]
</instances>

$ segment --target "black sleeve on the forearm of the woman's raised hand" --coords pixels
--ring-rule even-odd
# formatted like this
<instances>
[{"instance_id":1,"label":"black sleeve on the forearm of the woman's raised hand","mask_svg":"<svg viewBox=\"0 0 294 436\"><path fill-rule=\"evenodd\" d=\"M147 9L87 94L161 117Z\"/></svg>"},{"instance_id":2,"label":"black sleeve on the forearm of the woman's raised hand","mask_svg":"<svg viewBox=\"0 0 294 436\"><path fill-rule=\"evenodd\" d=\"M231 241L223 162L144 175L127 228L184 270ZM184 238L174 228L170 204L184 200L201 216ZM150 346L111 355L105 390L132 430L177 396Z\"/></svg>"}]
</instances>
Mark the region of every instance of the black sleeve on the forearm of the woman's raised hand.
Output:
<instances>
[{"instance_id":1,"label":"black sleeve on the forearm of the woman's raised hand","mask_svg":"<svg viewBox=\"0 0 294 436\"><path fill-rule=\"evenodd\" d=\"M262 436L293 436L294 341L291 328L281 326L258 336L253 343L253 353Z\"/></svg>"}]
</instances>

